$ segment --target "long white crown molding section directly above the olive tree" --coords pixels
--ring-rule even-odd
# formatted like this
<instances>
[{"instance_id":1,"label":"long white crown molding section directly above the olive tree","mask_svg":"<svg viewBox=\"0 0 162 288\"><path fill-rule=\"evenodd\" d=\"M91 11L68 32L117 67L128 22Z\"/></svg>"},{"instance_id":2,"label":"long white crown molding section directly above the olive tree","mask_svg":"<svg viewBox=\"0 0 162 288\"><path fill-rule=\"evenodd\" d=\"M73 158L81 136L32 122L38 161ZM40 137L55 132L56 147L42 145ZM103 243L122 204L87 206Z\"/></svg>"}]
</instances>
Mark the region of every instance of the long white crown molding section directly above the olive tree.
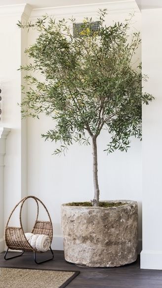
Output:
<instances>
[{"instance_id":1,"label":"long white crown molding section directly above the olive tree","mask_svg":"<svg viewBox=\"0 0 162 288\"><path fill-rule=\"evenodd\" d=\"M96 15L98 9L107 8L111 13L120 11L135 11L139 12L139 8L135 0L123 0L123 1L111 1L94 4L82 4L71 6L59 6L59 7L46 7L35 8L31 12L30 19L41 17L42 15L49 15L58 17L71 17L73 15Z\"/></svg>"}]
</instances>

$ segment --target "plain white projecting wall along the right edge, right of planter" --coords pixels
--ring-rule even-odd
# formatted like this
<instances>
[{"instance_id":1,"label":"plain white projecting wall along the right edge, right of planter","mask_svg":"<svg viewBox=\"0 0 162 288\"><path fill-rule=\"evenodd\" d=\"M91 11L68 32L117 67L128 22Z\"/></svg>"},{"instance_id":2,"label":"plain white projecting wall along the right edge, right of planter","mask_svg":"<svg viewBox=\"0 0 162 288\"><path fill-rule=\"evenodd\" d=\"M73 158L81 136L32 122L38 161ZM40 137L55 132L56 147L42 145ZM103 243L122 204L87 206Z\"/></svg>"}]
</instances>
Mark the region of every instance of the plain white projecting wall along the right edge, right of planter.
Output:
<instances>
[{"instance_id":1,"label":"plain white projecting wall along the right edge, right of planter","mask_svg":"<svg viewBox=\"0 0 162 288\"><path fill-rule=\"evenodd\" d=\"M143 249L141 268L162 269L162 9L142 10L144 91L155 100L143 107Z\"/></svg>"}]
</instances>

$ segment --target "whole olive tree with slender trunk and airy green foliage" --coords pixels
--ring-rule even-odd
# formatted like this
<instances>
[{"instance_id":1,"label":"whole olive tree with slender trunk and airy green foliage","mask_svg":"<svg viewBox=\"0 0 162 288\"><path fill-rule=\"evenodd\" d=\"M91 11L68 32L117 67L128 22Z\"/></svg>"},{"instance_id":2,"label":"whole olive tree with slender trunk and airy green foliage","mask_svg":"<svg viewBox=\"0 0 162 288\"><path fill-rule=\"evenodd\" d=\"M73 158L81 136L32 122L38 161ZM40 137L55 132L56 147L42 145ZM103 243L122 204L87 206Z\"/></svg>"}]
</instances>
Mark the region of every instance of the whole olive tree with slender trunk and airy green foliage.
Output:
<instances>
[{"instance_id":1,"label":"whole olive tree with slender trunk and airy green foliage","mask_svg":"<svg viewBox=\"0 0 162 288\"><path fill-rule=\"evenodd\" d=\"M36 42L26 49L31 63L28 90L21 103L25 117L45 113L54 125L42 137L60 143L55 154L65 153L74 142L91 144L93 154L93 206L99 206L97 138L102 129L111 135L105 151L127 151L131 137L141 139L142 103L153 96L142 93L141 64L134 55L140 33L131 33L130 21L105 25L106 10L100 11L100 30L85 18L78 38L65 19L44 16L20 28L39 31ZM39 73L42 75L40 78Z\"/></svg>"}]
</instances>

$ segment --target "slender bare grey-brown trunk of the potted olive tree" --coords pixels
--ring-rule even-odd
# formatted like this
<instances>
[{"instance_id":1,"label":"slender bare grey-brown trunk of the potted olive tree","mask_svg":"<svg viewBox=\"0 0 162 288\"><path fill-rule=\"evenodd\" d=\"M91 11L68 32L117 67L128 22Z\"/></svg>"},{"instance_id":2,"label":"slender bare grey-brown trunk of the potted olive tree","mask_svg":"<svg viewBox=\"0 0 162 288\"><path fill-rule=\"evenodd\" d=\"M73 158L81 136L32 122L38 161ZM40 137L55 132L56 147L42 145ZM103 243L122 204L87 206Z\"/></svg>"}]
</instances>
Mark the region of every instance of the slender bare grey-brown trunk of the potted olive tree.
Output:
<instances>
[{"instance_id":1,"label":"slender bare grey-brown trunk of the potted olive tree","mask_svg":"<svg viewBox=\"0 0 162 288\"><path fill-rule=\"evenodd\" d=\"M94 184L94 199L92 200L92 206L99 206L99 186L98 186L98 164L97 164L97 137L92 137L92 149L93 149L93 184Z\"/></svg>"}]
</instances>

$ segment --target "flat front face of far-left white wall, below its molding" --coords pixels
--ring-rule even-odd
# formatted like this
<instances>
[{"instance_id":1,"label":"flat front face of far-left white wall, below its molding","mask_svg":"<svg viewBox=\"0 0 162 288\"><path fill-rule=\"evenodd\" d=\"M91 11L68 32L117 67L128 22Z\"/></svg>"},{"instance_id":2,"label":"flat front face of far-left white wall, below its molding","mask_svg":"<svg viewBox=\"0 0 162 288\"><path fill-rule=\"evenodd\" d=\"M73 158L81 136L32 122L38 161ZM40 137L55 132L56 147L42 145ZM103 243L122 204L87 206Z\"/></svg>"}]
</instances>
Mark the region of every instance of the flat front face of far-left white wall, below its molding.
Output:
<instances>
[{"instance_id":1,"label":"flat front face of far-left white wall, below its molding","mask_svg":"<svg viewBox=\"0 0 162 288\"><path fill-rule=\"evenodd\" d=\"M17 106L21 99L21 75L17 71L21 63L21 31L17 29L16 21L17 17L0 17L0 27L5 27L5 31L0 29L0 82L3 94L1 124L11 128L6 141L4 222L14 201L19 201L21 193L21 115Z\"/></svg>"}]
</instances>

